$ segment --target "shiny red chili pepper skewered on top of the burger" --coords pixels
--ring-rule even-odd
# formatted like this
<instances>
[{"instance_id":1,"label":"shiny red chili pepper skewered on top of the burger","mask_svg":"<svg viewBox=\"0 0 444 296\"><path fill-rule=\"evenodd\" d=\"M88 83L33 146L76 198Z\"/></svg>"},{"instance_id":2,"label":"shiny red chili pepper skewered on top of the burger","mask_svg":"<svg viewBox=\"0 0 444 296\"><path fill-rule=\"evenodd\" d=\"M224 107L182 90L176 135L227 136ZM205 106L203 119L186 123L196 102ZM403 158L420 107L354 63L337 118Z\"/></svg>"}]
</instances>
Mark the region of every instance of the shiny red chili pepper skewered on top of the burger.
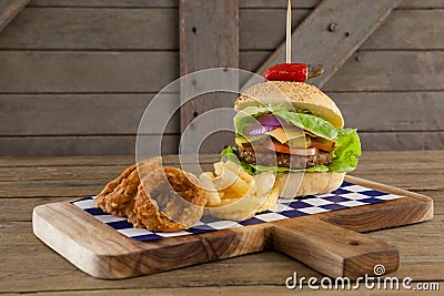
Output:
<instances>
[{"instance_id":1,"label":"shiny red chili pepper skewered on top of the burger","mask_svg":"<svg viewBox=\"0 0 444 296\"><path fill-rule=\"evenodd\" d=\"M305 63L281 63L266 69L265 81L297 81L305 82L311 78L317 76L324 72L322 64L317 64L317 69L311 71Z\"/></svg>"}]
</instances>

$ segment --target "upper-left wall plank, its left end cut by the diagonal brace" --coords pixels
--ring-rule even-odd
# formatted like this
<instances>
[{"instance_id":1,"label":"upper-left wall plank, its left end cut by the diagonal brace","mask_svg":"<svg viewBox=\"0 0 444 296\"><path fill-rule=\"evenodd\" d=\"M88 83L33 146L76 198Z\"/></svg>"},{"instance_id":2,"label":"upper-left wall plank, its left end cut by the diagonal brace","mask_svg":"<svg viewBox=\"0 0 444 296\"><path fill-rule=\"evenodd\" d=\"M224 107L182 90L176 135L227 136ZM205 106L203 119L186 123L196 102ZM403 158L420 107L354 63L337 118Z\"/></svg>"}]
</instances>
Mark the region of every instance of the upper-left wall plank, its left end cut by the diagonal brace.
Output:
<instances>
[{"instance_id":1,"label":"upper-left wall plank, its left end cut by the diagonal brace","mask_svg":"<svg viewBox=\"0 0 444 296\"><path fill-rule=\"evenodd\" d=\"M157 8L27 8L2 32L0 48L178 50L178 16Z\"/></svg>"}]
</instances>

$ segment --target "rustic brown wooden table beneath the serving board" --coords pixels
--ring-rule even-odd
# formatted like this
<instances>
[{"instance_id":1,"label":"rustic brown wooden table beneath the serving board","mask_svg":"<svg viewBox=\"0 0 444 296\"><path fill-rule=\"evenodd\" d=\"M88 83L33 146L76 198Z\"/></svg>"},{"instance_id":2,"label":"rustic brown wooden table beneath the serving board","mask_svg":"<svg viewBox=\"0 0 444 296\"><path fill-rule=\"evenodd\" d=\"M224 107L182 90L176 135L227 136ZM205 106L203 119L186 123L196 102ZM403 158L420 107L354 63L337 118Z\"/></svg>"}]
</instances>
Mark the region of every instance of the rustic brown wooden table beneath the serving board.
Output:
<instances>
[{"instance_id":1,"label":"rustic brown wooden table beneath the serving board","mask_svg":"<svg viewBox=\"0 0 444 296\"><path fill-rule=\"evenodd\" d=\"M164 157L175 163L176 157ZM206 166L215 155L202 157ZM48 293L121 295L282 295L320 294L285 287L285 279L297 272L306 278L322 275L278 252L180 268L161 274L120 280L97 279L78 271L32 234L32 208L40 204L70 201L97 194L104 184L134 162L131 156L82 156L0 159L0 294ZM412 287L438 283L441 292L412 290L417 295L437 295L444 289L444 151L365 152L355 176L418 192L433 197L431 222L369 233L396 245L401 266L390 274L400 279L412 277ZM435 286L434 286L435 287ZM420 288L420 286L417 286ZM377 289L340 294L381 295ZM339 293L339 292L336 292ZM405 290L390 294L405 295Z\"/></svg>"}]
</instances>

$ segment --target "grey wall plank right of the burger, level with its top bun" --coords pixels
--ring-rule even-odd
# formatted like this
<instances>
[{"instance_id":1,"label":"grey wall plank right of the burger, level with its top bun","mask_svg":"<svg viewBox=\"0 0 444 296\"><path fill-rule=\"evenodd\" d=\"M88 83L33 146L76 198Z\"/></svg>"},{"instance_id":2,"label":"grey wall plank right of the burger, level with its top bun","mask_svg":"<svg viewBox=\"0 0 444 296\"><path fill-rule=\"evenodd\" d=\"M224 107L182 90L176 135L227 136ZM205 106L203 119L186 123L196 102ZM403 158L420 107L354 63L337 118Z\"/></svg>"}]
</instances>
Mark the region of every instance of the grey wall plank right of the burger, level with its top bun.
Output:
<instances>
[{"instance_id":1,"label":"grey wall plank right of the burger, level with its top bun","mask_svg":"<svg viewBox=\"0 0 444 296\"><path fill-rule=\"evenodd\" d=\"M443 92L329 92L360 132L443 131ZM396 114L395 116L393 114Z\"/></svg>"}]
</instances>

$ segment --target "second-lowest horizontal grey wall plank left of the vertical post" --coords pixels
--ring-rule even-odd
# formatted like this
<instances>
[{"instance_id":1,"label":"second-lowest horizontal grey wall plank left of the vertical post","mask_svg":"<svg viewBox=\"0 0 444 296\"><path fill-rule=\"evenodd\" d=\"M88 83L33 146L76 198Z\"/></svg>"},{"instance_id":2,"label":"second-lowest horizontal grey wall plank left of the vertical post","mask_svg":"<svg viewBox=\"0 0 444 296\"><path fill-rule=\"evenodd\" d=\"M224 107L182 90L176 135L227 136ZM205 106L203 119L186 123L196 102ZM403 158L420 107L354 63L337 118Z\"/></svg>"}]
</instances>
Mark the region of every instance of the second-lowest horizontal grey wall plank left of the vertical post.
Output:
<instances>
[{"instance_id":1,"label":"second-lowest horizontal grey wall plank left of the vertical post","mask_svg":"<svg viewBox=\"0 0 444 296\"><path fill-rule=\"evenodd\" d=\"M135 134L143 112L155 93L144 94L0 94L1 135L110 135ZM159 98L158 98L159 100ZM180 132L179 95L161 96L159 116L150 134ZM75 112L73 112L75 110ZM110 116L110 114L112 114Z\"/></svg>"}]
</instances>

